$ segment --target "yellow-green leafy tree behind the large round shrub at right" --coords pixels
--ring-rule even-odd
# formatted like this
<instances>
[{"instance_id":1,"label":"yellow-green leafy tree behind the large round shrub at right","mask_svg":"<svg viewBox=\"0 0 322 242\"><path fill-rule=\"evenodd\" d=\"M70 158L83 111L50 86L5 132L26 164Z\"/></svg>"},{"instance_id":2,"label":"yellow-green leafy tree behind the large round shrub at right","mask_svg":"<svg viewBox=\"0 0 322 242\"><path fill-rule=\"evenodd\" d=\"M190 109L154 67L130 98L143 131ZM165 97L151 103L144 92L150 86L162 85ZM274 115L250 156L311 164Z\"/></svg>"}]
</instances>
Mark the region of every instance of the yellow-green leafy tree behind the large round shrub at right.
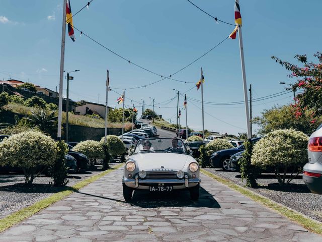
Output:
<instances>
[{"instance_id":1,"label":"yellow-green leafy tree behind the large round shrub at right","mask_svg":"<svg viewBox=\"0 0 322 242\"><path fill-rule=\"evenodd\" d=\"M322 122L322 116L316 117L317 122L310 122L312 110L306 109L302 115L295 117L296 112L297 109L293 106L275 106L264 110L262 116L255 117L253 122L260 127L258 133L261 135L278 129L295 129L305 134L311 134L316 129L316 124Z\"/></svg>"}]
</instances>

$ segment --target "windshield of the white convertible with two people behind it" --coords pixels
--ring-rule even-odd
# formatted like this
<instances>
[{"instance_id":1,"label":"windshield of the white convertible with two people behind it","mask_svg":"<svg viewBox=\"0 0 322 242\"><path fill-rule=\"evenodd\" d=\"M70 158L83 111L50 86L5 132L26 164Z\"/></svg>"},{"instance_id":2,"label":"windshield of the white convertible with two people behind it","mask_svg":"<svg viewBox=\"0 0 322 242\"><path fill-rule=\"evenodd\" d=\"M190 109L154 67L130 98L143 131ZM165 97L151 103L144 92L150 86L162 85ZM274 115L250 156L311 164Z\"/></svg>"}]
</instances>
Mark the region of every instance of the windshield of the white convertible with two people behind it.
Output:
<instances>
[{"instance_id":1,"label":"windshield of the white convertible with two people behind it","mask_svg":"<svg viewBox=\"0 0 322 242\"><path fill-rule=\"evenodd\" d=\"M134 153L144 152L168 152L186 154L186 147L178 138L151 138L139 140L135 146Z\"/></svg>"}]
</instances>

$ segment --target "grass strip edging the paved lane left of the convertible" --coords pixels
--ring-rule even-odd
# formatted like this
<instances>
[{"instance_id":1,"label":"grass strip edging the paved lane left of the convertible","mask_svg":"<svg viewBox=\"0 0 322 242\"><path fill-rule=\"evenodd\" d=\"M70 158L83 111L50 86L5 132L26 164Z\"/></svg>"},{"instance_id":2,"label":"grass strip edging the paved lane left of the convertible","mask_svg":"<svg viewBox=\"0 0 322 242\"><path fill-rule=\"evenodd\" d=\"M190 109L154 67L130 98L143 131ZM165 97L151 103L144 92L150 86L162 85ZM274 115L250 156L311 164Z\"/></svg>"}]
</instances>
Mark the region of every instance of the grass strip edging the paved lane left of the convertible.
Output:
<instances>
[{"instance_id":1,"label":"grass strip edging the paved lane left of the convertible","mask_svg":"<svg viewBox=\"0 0 322 242\"><path fill-rule=\"evenodd\" d=\"M5 231L6 229L16 225L17 223L23 221L24 219L34 215L35 213L39 212L40 210L47 208L53 203L56 203L69 194L73 193L74 191L77 191L90 183L93 183L93 181L96 181L97 179L101 178L102 176L112 172L115 169L120 168L124 164L118 164L114 166L112 169L102 171L101 173L97 175L93 175L90 178L87 178L85 180L79 181L79 183L75 184L72 187L66 187L66 190L58 192L48 198L44 198L40 200L39 202L34 203L33 205L30 205L26 208L20 209L19 211L8 215L5 218L0 219L0 232Z\"/></svg>"}]
</instances>

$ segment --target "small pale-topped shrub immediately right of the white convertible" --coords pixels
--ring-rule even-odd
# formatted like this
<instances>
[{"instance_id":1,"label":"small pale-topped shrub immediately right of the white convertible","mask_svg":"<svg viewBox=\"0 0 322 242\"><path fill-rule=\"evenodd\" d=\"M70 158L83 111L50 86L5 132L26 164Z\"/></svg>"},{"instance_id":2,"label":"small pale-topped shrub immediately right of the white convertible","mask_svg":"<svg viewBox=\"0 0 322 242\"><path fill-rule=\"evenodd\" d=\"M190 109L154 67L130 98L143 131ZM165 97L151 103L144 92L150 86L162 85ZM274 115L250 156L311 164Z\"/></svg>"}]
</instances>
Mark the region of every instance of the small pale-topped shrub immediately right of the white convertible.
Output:
<instances>
[{"instance_id":1,"label":"small pale-topped shrub immediately right of the white convertible","mask_svg":"<svg viewBox=\"0 0 322 242\"><path fill-rule=\"evenodd\" d=\"M218 150L225 150L230 148L233 148L232 144L230 144L227 140L224 139L215 139L213 141L210 141L208 144L205 145L204 150L202 150L202 148L199 148L200 161L202 167L206 167L210 164L210 156L212 153Z\"/></svg>"}]
</instances>

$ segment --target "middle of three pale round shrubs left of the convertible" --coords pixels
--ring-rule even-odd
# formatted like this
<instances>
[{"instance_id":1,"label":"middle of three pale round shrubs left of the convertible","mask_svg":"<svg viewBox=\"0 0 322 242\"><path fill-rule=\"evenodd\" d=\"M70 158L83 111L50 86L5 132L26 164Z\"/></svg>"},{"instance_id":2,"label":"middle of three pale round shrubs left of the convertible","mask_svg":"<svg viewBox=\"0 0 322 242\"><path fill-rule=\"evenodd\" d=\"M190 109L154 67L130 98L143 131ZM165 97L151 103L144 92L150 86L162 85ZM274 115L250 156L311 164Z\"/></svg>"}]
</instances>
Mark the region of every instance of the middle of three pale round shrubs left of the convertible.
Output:
<instances>
[{"instance_id":1,"label":"middle of three pale round shrubs left of the convertible","mask_svg":"<svg viewBox=\"0 0 322 242\"><path fill-rule=\"evenodd\" d=\"M79 142L72 150L85 154L89 158L90 166L92 167L95 165L97 159L105 158L102 143L94 140Z\"/></svg>"}]
</instances>

